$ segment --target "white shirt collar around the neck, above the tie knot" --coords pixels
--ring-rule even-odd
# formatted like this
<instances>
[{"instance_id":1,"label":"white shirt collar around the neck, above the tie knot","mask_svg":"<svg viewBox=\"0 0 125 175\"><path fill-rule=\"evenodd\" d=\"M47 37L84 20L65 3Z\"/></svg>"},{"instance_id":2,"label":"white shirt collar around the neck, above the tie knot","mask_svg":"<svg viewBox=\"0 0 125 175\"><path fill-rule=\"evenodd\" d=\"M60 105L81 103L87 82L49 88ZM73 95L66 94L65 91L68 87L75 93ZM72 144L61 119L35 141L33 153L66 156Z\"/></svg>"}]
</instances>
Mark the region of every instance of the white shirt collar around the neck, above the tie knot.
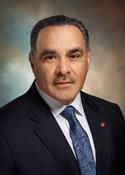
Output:
<instances>
[{"instance_id":1,"label":"white shirt collar around the neck, above the tie knot","mask_svg":"<svg viewBox=\"0 0 125 175\"><path fill-rule=\"evenodd\" d=\"M40 94L40 96L45 100L45 102L49 105L50 110L52 112L52 114L57 117L65 108L66 105L64 105L63 103L61 103L60 101L48 96L45 92L43 92L37 82L35 83L36 88L38 90L38 93ZM82 106L82 102L81 102L81 95L80 93L77 94L76 98L73 100L73 102L69 105L72 105L75 109L76 112L83 116L84 111L83 111L83 106Z\"/></svg>"}]
</instances>

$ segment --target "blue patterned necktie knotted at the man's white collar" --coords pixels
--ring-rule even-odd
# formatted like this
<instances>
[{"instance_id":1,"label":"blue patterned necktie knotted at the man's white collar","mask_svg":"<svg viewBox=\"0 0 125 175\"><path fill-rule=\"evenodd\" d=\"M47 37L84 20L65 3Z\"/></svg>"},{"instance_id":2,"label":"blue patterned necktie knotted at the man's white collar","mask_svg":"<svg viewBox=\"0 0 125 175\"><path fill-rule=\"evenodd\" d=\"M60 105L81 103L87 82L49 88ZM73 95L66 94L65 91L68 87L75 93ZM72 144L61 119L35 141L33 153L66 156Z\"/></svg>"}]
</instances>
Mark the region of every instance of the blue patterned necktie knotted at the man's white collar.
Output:
<instances>
[{"instance_id":1,"label":"blue patterned necktie knotted at the man's white collar","mask_svg":"<svg viewBox=\"0 0 125 175\"><path fill-rule=\"evenodd\" d=\"M70 137L78 159L81 175L96 175L96 166L89 138L76 118L75 108L67 106L61 112L61 115L69 122Z\"/></svg>"}]
</instances>

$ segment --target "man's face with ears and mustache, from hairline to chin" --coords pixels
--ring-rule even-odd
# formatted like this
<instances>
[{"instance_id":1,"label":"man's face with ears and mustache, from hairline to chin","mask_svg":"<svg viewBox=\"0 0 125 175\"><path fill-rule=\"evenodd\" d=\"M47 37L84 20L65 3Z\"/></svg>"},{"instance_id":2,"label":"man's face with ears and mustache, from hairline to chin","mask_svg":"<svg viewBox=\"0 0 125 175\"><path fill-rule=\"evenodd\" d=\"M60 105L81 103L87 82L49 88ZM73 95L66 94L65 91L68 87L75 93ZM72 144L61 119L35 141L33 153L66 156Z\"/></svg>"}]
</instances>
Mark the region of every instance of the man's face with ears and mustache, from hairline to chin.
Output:
<instances>
[{"instance_id":1,"label":"man's face with ears and mustache, from hairline to chin","mask_svg":"<svg viewBox=\"0 0 125 175\"><path fill-rule=\"evenodd\" d=\"M51 26L39 32L36 54L30 54L30 62L40 89L69 104L83 87L90 51L76 26Z\"/></svg>"}]
</instances>

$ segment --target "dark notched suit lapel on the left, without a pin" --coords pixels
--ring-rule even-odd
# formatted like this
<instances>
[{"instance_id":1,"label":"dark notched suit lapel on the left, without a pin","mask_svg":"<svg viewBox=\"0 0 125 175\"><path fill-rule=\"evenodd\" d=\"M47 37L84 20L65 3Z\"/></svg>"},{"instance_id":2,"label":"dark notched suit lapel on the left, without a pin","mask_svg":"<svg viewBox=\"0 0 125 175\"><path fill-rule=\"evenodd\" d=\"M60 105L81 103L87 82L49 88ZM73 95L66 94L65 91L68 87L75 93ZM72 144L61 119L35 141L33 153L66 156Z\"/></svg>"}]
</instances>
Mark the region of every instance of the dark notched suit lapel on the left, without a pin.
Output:
<instances>
[{"instance_id":1,"label":"dark notched suit lapel on the left, without a pin","mask_svg":"<svg viewBox=\"0 0 125 175\"><path fill-rule=\"evenodd\" d=\"M28 92L29 117L37 122L35 134L46 145L66 175L79 175L77 161L49 107L33 85Z\"/></svg>"}]
</instances>

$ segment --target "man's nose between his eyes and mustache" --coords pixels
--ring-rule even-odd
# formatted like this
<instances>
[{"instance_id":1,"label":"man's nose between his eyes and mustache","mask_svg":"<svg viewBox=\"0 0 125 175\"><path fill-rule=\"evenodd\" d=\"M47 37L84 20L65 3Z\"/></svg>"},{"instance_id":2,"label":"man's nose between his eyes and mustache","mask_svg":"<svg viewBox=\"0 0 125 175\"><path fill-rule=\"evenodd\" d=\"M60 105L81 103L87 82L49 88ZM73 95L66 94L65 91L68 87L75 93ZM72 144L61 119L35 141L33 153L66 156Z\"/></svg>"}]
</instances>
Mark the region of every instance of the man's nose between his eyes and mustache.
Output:
<instances>
[{"instance_id":1,"label":"man's nose between his eyes and mustache","mask_svg":"<svg viewBox=\"0 0 125 175\"><path fill-rule=\"evenodd\" d=\"M70 63L67 58L61 58L59 60L56 72L61 75L70 74Z\"/></svg>"}]
</instances>

